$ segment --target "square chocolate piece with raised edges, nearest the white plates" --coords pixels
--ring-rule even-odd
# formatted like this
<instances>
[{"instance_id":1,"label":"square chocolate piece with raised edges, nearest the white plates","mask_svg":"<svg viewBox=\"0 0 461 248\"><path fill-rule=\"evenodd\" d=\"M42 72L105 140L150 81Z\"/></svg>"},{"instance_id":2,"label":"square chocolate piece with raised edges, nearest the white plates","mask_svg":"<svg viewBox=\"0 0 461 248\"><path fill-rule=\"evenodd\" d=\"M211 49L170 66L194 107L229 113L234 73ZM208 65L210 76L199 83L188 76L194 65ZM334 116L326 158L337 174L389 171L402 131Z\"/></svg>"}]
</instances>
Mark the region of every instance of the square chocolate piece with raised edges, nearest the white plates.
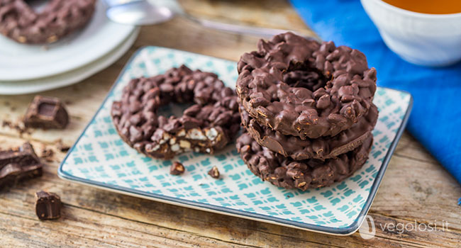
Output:
<instances>
[{"instance_id":1,"label":"square chocolate piece with raised edges, nearest the white plates","mask_svg":"<svg viewBox=\"0 0 461 248\"><path fill-rule=\"evenodd\" d=\"M59 98L35 96L23 122L27 128L63 129L69 123L69 115Z\"/></svg>"}]
</instances>

